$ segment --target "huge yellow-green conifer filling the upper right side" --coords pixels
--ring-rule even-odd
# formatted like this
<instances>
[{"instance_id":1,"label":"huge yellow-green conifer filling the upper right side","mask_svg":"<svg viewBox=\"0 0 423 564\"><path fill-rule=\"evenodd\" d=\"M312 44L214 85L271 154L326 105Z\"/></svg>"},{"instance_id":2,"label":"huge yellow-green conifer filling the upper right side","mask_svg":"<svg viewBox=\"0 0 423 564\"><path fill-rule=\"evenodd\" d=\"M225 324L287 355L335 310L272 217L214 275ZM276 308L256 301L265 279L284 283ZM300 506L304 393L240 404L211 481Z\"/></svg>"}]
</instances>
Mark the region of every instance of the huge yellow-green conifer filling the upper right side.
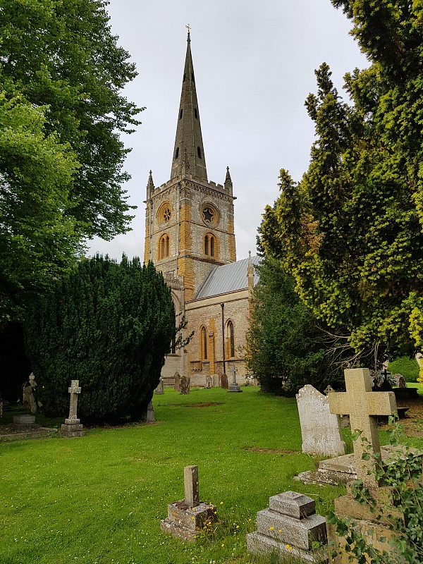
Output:
<instances>
[{"instance_id":1,"label":"huge yellow-green conifer filling the upper right side","mask_svg":"<svg viewBox=\"0 0 423 564\"><path fill-rule=\"evenodd\" d=\"M317 317L348 336L355 360L380 360L423 345L423 12L417 2L333 5L371 66L345 75L351 104L326 64L316 71L309 169L298 184L282 172L260 242Z\"/></svg>"}]
</instances>

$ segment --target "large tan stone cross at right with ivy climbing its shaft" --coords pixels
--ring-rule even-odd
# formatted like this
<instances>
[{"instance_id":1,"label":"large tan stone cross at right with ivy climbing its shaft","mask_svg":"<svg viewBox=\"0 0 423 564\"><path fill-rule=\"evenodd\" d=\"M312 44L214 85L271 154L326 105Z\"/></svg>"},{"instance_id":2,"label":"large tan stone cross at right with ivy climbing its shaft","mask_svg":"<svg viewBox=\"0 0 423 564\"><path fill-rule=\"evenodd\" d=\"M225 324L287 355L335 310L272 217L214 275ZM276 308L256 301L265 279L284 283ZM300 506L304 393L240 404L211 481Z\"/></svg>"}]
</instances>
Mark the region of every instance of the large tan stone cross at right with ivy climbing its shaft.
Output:
<instances>
[{"instance_id":1,"label":"large tan stone cross at right with ivy climbing its shaft","mask_svg":"<svg viewBox=\"0 0 423 564\"><path fill-rule=\"evenodd\" d=\"M350 415L351 431L362 431L362 437L354 441L354 461L357 477L370 488L378 487L373 474L372 453L380 453L379 436L377 434L376 416L393 415L396 412L396 399L393 392L372 392L372 379L367 368L354 368L344 371L346 392L330 392L329 408L337 415ZM369 460L363 460L365 452Z\"/></svg>"}]
</instances>

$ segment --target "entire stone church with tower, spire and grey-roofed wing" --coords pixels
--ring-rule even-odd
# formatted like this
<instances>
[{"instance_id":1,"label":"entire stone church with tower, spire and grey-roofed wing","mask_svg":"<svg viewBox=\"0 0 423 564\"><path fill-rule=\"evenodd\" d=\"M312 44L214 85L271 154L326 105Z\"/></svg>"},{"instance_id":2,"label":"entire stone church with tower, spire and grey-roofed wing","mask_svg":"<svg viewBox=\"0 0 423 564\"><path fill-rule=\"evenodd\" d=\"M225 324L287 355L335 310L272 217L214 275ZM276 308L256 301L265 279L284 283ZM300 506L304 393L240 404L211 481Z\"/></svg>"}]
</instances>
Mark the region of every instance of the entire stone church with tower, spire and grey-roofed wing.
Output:
<instances>
[{"instance_id":1,"label":"entire stone church with tower, spire and grey-roofed wing","mask_svg":"<svg viewBox=\"0 0 423 564\"><path fill-rule=\"evenodd\" d=\"M176 310L185 319L183 348L174 347L161 371L164 384L176 372L191 386L219 386L223 374L238 384L247 378L245 336L252 290L258 281L251 255L236 260L233 183L208 180L188 30L171 178L145 200L144 261L164 274Z\"/></svg>"}]
</instances>

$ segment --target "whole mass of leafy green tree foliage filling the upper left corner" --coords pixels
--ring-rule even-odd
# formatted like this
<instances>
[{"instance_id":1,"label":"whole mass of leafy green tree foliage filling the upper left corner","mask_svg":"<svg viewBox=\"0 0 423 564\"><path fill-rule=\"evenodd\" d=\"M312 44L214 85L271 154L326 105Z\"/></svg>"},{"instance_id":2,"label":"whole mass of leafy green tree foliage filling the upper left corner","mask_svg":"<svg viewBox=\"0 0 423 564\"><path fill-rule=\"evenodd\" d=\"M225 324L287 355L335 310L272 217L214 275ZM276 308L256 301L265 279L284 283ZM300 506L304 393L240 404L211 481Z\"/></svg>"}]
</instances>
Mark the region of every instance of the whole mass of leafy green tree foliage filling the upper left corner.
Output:
<instances>
[{"instance_id":1,"label":"whole mass of leafy green tree foliage filling the upper left corner","mask_svg":"<svg viewBox=\"0 0 423 564\"><path fill-rule=\"evenodd\" d=\"M135 66L104 0L0 0L0 319L132 216L122 189ZM33 273L33 274L32 274Z\"/></svg>"}]
</instances>

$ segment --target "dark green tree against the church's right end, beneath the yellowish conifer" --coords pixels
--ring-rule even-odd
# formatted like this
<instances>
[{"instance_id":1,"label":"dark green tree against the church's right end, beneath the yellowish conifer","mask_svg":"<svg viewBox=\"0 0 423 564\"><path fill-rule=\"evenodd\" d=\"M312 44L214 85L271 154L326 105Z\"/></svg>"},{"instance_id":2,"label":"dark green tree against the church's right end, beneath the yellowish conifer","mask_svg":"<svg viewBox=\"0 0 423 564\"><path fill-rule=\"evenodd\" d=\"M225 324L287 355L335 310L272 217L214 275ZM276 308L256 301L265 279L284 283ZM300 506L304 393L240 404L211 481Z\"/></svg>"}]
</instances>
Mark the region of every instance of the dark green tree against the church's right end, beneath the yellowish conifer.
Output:
<instances>
[{"instance_id":1,"label":"dark green tree against the church's right end, beneath the yellowish conifer","mask_svg":"<svg viewBox=\"0 0 423 564\"><path fill-rule=\"evenodd\" d=\"M281 262L264 259L257 269L247 365L266 391L293 395L305 384L324 390L341 379L339 364L327 355L327 335L295 293Z\"/></svg>"}]
</instances>

